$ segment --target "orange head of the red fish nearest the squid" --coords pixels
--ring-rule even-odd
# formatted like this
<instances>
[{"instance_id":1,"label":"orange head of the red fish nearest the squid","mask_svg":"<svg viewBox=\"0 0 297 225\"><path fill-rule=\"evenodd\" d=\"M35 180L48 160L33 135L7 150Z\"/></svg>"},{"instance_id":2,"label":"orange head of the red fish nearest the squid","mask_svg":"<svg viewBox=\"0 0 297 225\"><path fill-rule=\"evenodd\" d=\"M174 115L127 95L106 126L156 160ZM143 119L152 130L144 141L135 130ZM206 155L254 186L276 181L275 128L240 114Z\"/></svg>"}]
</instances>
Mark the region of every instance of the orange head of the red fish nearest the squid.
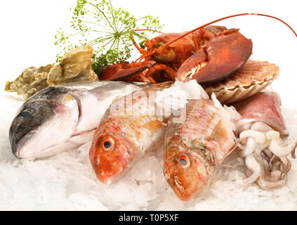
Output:
<instances>
[{"instance_id":1,"label":"orange head of the red fish nearest the squid","mask_svg":"<svg viewBox=\"0 0 297 225\"><path fill-rule=\"evenodd\" d=\"M206 186L209 173L203 161L183 144L165 147L164 176L180 200L190 200Z\"/></svg>"}]
</instances>

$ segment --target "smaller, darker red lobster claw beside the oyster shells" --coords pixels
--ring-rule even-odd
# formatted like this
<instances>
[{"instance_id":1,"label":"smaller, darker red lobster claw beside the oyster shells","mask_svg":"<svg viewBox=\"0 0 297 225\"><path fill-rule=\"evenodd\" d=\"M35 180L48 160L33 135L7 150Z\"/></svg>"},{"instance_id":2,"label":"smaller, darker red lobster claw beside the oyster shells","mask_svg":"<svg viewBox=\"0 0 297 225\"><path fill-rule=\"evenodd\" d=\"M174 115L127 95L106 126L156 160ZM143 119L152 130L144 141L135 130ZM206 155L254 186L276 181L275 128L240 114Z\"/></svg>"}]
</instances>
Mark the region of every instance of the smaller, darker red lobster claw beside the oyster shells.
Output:
<instances>
[{"instance_id":1,"label":"smaller, darker red lobster claw beside the oyster shells","mask_svg":"<svg viewBox=\"0 0 297 225\"><path fill-rule=\"evenodd\" d=\"M135 63L134 65L128 62L121 62L114 65L108 65L99 75L100 80L123 80L133 75L136 75L144 70L151 68L156 62L144 61Z\"/></svg>"}]
</instances>

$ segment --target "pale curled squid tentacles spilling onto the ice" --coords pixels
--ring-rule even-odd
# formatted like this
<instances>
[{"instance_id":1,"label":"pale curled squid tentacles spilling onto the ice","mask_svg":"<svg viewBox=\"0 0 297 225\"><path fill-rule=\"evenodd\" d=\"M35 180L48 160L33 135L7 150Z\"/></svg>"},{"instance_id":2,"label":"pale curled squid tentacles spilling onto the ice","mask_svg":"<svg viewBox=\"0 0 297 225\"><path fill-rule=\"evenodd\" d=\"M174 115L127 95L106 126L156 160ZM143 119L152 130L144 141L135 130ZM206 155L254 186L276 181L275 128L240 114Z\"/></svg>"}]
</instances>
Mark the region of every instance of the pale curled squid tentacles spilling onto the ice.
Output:
<instances>
[{"instance_id":1,"label":"pale curled squid tentacles spilling onto the ice","mask_svg":"<svg viewBox=\"0 0 297 225\"><path fill-rule=\"evenodd\" d=\"M245 158L246 167L252 172L244 179L244 183L251 184L256 181L258 186L265 190L284 186L286 173L291 169L291 162L286 156L295 150L297 138L284 144L279 132L255 123L250 129L242 131L239 139L246 139L246 145L242 146L239 155Z\"/></svg>"}]
</instances>

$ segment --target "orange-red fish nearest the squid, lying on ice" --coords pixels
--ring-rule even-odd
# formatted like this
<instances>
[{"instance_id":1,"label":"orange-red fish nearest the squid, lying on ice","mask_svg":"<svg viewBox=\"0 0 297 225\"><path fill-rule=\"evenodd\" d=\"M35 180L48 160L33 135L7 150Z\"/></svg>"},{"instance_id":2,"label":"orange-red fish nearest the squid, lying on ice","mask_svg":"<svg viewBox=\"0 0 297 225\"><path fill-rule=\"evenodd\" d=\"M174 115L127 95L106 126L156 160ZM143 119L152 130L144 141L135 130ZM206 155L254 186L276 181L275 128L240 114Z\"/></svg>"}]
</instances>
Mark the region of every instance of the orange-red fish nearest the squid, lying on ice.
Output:
<instances>
[{"instance_id":1,"label":"orange-red fish nearest the squid, lying on ice","mask_svg":"<svg viewBox=\"0 0 297 225\"><path fill-rule=\"evenodd\" d=\"M190 200L213 179L235 146L235 136L210 99L189 100L183 123L169 118L164 141L164 176L178 198Z\"/></svg>"}]
</instances>

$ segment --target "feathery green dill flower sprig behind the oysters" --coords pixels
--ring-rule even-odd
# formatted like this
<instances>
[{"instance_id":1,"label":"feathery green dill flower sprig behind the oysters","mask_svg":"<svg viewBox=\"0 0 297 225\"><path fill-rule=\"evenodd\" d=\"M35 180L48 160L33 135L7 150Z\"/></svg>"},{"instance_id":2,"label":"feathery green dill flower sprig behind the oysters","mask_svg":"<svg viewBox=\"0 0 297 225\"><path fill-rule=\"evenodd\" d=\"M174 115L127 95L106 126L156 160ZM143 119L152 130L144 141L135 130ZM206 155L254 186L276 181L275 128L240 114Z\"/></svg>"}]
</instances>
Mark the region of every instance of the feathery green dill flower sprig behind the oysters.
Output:
<instances>
[{"instance_id":1,"label":"feathery green dill flower sprig behind the oysters","mask_svg":"<svg viewBox=\"0 0 297 225\"><path fill-rule=\"evenodd\" d=\"M137 37L140 46L144 48L144 42L149 39L146 32L159 32L164 26L152 15L136 19L122 8L115 9L111 2L106 0L99 3L96 0L77 0L73 14L73 34L65 34L61 29L55 34L55 45L62 48L57 55L57 63L67 51L77 46L93 46L92 67L97 74L100 74L106 65L131 57L133 37ZM147 31L138 31L140 25ZM76 41L75 37L78 37Z\"/></svg>"}]
</instances>

